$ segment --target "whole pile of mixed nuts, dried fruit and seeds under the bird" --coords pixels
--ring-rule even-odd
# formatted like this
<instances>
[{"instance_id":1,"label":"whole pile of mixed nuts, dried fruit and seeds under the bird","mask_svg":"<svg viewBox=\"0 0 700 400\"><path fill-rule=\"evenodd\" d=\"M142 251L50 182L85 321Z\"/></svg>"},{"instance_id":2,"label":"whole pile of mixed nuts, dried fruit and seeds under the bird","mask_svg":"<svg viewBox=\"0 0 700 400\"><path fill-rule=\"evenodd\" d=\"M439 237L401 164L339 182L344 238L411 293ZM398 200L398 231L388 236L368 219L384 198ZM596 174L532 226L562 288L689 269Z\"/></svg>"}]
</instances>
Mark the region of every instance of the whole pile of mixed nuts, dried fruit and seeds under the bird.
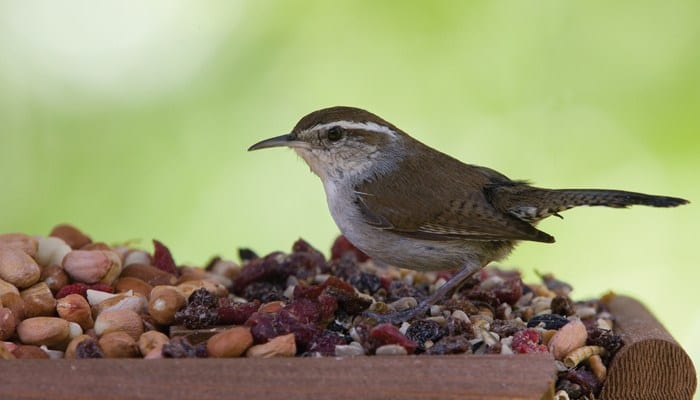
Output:
<instances>
[{"instance_id":1,"label":"whole pile of mixed nuts, dried fruit and seeds under the bird","mask_svg":"<svg viewBox=\"0 0 700 400\"><path fill-rule=\"evenodd\" d=\"M560 398L585 399L622 345L601 301L573 301L550 275L525 284L486 268L393 325L363 312L413 307L452 272L378 266L342 236L330 260L301 239L291 253L239 259L178 266L158 241L152 253L110 246L70 225L0 235L0 359L549 352Z\"/></svg>"}]
</instances>

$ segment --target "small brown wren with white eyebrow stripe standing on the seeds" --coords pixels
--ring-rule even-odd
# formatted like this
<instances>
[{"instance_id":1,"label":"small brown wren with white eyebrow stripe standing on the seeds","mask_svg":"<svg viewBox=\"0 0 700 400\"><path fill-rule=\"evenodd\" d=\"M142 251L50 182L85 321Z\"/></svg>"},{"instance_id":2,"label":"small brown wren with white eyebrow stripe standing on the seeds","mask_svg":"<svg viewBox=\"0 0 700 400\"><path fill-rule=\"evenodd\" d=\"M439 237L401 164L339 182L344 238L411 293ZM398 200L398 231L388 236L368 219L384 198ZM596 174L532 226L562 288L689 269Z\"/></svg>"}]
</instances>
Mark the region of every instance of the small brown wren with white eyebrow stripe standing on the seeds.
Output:
<instances>
[{"instance_id":1,"label":"small brown wren with white eyebrow stripe standing on the seeds","mask_svg":"<svg viewBox=\"0 0 700 400\"><path fill-rule=\"evenodd\" d=\"M619 190L542 189L469 165L358 108L302 118L248 150L291 147L323 181L340 231L370 257L415 270L459 270L416 308L371 315L399 322L425 312L520 240L554 242L534 225L576 206L675 207L687 200Z\"/></svg>"}]
</instances>

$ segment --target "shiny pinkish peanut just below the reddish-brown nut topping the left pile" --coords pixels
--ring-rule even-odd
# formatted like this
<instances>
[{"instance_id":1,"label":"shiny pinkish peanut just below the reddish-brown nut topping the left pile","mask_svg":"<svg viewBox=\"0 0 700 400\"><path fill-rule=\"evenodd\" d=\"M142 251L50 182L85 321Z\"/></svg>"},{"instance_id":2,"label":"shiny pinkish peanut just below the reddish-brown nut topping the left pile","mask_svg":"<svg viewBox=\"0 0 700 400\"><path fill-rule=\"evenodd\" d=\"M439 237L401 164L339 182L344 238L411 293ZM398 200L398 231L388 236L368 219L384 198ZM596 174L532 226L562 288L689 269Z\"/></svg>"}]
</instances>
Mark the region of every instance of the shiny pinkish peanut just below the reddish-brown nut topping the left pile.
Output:
<instances>
[{"instance_id":1,"label":"shiny pinkish peanut just below the reddish-brown nut topping the left pile","mask_svg":"<svg viewBox=\"0 0 700 400\"><path fill-rule=\"evenodd\" d=\"M73 250L63 259L68 276L83 283L111 284L121 273L119 256L108 250Z\"/></svg>"}]
</instances>

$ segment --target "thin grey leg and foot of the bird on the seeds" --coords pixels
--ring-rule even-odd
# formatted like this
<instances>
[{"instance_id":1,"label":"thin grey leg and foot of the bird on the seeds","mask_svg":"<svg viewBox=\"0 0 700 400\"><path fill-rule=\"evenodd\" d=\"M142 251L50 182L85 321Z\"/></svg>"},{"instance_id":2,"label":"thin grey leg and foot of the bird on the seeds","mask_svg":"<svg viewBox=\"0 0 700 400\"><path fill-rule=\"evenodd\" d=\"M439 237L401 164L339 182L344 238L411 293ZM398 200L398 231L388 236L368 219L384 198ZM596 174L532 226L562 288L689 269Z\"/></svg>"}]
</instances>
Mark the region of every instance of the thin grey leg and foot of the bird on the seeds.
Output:
<instances>
[{"instance_id":1,"label":"thin grey leg and foot of the bird on the seeds","mask_svg":"<svg viewBox=\"0 0 700 400\"><path fill-rule=\"evenodd\" d=\"M415 318L419 315L425 314L430 306L437 303L438 301L446 298L456 289L461 287L469 277L474 275L477 271L481 269L481 264L479 262L470 260L465 266L457 272L450 280L445 282L444 285L440 286L433 294L418 303L417 306L409 308L402 311L394 311L387 314L379 314L372 311L365 311L362 313L363 316L367 318L372 318L377 322L381 323L392 323L400 324L409 319Z\"/></svg>"}]
</instances>

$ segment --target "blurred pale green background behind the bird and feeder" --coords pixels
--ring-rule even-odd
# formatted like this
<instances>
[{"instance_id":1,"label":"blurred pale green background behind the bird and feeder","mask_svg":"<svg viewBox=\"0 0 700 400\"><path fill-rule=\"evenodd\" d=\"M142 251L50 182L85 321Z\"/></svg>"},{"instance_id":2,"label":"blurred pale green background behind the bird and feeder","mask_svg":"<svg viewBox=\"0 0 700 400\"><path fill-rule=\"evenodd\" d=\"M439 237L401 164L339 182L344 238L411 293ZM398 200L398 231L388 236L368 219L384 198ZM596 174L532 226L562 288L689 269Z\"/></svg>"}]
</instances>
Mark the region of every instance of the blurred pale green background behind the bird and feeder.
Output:
<instances>
[{"instance_id":1,"label":"blurred pale green background behind the bird and feeder","mask_svg":"<svg viewBox=\"0 0 700 400\"><path fill-rule=\"evenodd\" d=\"M690 0L0 0L0 232L327 251L318 178L246 149L354 105L511 178L695 201L569 211L504 264L636 296L700 360L699 43Z\"/></svg>"}]
</instances>

